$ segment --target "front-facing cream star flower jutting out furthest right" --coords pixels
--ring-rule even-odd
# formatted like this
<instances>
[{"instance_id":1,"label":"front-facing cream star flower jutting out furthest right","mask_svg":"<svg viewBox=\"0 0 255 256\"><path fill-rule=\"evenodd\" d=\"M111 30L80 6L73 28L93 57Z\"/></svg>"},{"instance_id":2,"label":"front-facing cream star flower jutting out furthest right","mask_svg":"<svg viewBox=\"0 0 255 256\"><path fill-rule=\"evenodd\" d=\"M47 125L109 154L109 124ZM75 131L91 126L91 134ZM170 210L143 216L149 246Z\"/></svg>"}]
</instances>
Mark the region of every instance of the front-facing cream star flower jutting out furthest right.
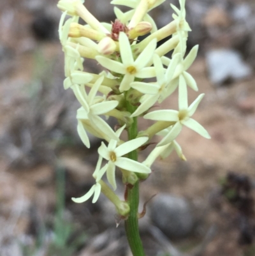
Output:
<instances>
[{"instance_id":1,"label":"front-facing cream star flower jutting out furthest right","mask_svg":"<svg viewBox=\"0 0 255 256\"><path fill-rule=\"evenodd\" d=\"M201 126L197 121L191 118L198 104L201 102L205 94L200 94L196 100L188 107L187 106L187 86L185 79L180 75L179 84L179 111L177 110L156 110L146 114L145 119L152 119L156 121L176 121L176 123L171 128L170 132L164 137L157 146L164 146L171 141L173 141L182 130L182 126L187 126L191 130L199 133L201 136L210 139L210 135L207 130Z\"/></svg>"}]
</instances>

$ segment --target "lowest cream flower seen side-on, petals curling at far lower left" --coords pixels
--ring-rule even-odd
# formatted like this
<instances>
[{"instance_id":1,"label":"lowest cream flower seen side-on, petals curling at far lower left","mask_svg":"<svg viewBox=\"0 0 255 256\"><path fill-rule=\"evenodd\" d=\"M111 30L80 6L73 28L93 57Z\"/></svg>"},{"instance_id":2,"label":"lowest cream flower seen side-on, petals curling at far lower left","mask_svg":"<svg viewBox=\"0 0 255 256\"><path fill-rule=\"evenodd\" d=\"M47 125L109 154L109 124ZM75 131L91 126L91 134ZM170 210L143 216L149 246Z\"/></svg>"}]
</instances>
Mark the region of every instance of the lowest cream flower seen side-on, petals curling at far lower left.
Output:
<instances>
[{"instance_id":1,"label":"lowest cream flower seen side-on, petals curling at far lower left","mask_svg":"<svg viewBox=\"0 0 255 256\"><path fill-rule=\"evenodd\" d=\"M99 181L101 180L103 174L105 174L105 171L108 167L108 165L106 164L103 168L101 168L102 160L103 158L99 156L98 163L96 165L96 169L93 174L94 179L96 179L96 184L94 184L89 190L89 192L85 193L85 195L83 195L82 197L78 197L78 198L72 197L73 202L77 202L80 204L82 202L87 201L89 198L91 198L93 194L94 194L94 197L92 199L92 203L94 204L98 200L101 192L101 184L99 183Z\"/></svg>"}]
</instances>

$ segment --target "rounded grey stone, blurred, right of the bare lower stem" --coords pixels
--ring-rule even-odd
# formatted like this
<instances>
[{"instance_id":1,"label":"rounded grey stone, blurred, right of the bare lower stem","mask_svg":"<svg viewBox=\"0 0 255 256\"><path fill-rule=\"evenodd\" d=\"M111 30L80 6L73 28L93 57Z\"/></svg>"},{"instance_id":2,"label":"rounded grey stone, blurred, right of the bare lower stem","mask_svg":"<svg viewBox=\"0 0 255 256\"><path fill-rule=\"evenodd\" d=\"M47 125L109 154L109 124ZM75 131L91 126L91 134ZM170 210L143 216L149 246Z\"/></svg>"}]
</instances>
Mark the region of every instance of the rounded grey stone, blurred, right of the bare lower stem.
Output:
<instances>
[{"instance_id":1,"label":"rounded grey stone, blurred, right of the bare lower stem","mask_svg":"<svg viewBox=\"0 0 255 256\"><path fill-rule=\"evenodd\" d=\"M171 238L186 237L194 227L194 216L186 199L168 193L157 195L151 206L152 221Z\"/></svg>"}]
</instances>

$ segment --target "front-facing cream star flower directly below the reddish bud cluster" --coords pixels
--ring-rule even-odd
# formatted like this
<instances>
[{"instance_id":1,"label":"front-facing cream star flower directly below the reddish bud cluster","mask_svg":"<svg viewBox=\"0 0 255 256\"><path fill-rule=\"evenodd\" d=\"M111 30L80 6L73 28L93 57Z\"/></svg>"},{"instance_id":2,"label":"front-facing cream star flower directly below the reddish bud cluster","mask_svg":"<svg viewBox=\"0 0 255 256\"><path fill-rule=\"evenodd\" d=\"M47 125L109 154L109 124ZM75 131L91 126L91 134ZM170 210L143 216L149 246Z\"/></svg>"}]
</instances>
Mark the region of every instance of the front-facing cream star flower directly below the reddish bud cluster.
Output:
<instances>
[{"instance_id":1,"label":"front-facing cream star flower directly below the reddish bud cluster","mask_svg":"<svg viewBox=\"0 0 255 256\"><path fill-rule=\"evenodd\" d=\"M146 65L152 58L156 45L156 39L150 41L147 47L143 49L141 54L134 61L128 36L125 33L120 32L119 46L122 63L103 56L96 56L96 60L108 70L124 75L119 90L120 92L128 91L130 84L134 81L135 77L141 79L155 77L154 67L146 67Z\"/></svg>"}]
</instances>

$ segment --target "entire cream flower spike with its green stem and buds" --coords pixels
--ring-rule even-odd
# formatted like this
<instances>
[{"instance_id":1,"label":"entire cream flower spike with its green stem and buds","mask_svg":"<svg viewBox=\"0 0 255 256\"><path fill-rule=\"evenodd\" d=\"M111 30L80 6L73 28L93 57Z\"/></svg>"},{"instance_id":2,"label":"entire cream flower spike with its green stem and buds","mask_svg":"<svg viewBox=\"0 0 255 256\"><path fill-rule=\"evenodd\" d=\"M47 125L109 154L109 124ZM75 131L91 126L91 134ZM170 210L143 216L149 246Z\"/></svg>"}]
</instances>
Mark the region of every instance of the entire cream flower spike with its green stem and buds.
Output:
<instances>
[{"instance_id":1,"label":"entire cream flower spike with its green stem and buds","mask_svg":"<svg viewBox=\"0 0 255 256\"><path fill-rule=\"evenodd\" d=\"M64 89L71 89L80 103L77 132L88 148L91 147L88 133L102 140L92 174L95 184L85 195L72 200L83 203L92 197L95 203L100 193L104 193L125 222L133 256L145 256L138 229L138 216L145 214L145 211L138 214L140 181L150 177L151 167L159 157L164 159L175 151L180 160L186 161L175 140L183 126L210 139L205 128L192 118L204 94L190 105L187 97L188 89L198 91L196 81L187 72L198 46L186 54L191 31L186 21L186 0L179 0L180 8L171 4L175 11L173 20L157 30L149 11L164 1L113 0L112 4L133 10L124 13L115 7L116 20L109 24L99 22L84 6L84 0L60 0L57 4L63 11L59 40L64 52ZM80 18L85 25L78 23ZM138 36L146 34L144 40L138 40ZM168 36L171 38L157 47L157 42ZM169 52L171 58L164 56ZM87 59L105 70L87 72L84 68ZM152 110L176 90L179 110ZM115 119L114 128L106 121L109 116ZM155 123L141 131L138 119ZM128 139L122 139L123 133ZM160 139L154 142L156 136ZM138 154L148 146L154 149L139 162ZM115 193L118 184L115 173L119 170L126 186L124 200Z\"/></svg>"}]
</instances>

